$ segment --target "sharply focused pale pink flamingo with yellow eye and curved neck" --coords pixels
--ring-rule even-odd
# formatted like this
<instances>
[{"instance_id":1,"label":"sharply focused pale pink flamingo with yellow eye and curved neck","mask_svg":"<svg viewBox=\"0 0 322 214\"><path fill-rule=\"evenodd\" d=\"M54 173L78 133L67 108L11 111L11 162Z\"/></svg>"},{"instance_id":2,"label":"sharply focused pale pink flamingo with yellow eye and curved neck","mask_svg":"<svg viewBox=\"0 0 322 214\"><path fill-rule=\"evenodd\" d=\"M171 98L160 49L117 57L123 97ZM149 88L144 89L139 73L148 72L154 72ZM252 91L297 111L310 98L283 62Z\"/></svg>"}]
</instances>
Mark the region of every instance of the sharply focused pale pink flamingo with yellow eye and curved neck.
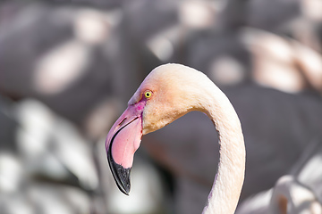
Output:
<instances>
[{"instance_id":1,"label":"sharply focused pale pink flamingo with yellow eye and curved neck","mask_svg":"<svg viewBox=\"0 0 322 214\"><path fill-rule=\"evenodd\" d=\"M109 167L121 192L130 193L134 152L143 135L190 111L202 111L219 136L220 160L202 213L233 213L242 191L245 145L237 113L225 94L203 73L181 64L152 70L106 137Z\"/></svg>"}]
</instances>

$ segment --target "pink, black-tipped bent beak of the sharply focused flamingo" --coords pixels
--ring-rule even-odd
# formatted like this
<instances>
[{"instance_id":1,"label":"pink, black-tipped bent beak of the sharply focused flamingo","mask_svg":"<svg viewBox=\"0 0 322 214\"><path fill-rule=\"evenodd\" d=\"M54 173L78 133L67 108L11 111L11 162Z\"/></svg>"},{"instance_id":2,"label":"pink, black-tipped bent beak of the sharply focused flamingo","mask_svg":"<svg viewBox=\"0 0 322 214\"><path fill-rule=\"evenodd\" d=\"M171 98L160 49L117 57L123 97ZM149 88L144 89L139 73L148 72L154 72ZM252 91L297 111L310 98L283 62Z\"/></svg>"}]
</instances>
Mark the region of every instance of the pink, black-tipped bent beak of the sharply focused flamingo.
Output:
<instances>
[{"instance_id":1,"label":"pink, black-tipped bent beak of the sharply focused flamingo","mask_svg":"<svg viewBox=\"0 0 322 214\"><path fill-rule=\"evenodd\" d=\"M106 137L106 153L109 167L120 191L129 195L130 172L134 152L140 146L142 116L135 106L129 106L116 120Z\"/></svg>"}]
</instances>

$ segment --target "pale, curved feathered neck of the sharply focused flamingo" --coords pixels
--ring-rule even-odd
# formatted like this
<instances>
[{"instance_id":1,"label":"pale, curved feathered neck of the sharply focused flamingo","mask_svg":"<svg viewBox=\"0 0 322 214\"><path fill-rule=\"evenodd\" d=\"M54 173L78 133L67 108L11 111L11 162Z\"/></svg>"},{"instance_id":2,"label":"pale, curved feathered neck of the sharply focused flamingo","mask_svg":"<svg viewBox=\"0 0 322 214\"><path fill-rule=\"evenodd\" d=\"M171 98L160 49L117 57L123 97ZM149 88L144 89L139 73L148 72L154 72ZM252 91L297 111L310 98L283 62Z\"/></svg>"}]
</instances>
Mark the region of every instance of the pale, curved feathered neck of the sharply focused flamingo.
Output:
<instances>
[{"instance_id":1,"label":"pale, curved feathered neck of the sharply focused flamingo","mask_svg":"<svg viewBox=\"0 0 322 214\"><path fill-rule=\"evenodd\" d=\"M220 159L214 185L203 214L233 214L240 194L245 170L245 144L241 122L233 105L215 85L207 88L207 104L203 106L216 126Z\"/></svg>"}]
</instances>

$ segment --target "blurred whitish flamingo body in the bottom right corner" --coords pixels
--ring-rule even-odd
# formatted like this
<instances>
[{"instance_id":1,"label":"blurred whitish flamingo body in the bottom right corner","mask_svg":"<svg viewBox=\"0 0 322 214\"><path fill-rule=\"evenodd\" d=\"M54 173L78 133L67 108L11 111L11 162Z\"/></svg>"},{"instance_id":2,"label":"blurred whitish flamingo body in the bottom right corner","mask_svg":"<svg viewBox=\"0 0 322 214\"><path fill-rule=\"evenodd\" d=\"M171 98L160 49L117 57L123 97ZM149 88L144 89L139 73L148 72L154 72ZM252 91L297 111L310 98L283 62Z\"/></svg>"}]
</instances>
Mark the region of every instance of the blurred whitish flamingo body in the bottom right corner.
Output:
<instances>
[{"instance_id":1,"label":"blurred whitish flamingo body in the bottom right corner","mask_svg":"<svg viewBox=\"0 0 322 214\"><path fill-rule=\"evenodd\" d=\"M236 214L320 214L322 213L320 140L307 143L290 174L280 177L275 186L239 204Z\"/></svg>"}]
</instances>

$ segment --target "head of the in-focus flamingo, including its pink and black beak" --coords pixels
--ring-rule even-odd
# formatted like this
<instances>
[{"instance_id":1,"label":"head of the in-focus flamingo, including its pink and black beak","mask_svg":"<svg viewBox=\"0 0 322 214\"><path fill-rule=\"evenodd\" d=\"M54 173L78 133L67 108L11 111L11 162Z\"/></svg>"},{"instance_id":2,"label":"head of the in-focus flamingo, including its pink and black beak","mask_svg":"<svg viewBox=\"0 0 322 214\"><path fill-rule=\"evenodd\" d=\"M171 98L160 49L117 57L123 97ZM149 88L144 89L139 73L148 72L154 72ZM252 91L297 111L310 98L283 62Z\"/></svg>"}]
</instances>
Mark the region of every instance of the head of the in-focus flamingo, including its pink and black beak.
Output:
<instances>
[{"instance_id":1,"label":"head of the in-focus flamingo, including its pink and black beak","mask_svg":"<svg viewBox=\"0 0 322 214\"><path fill-rule=\"evenodd\" d=\"M202 111L196 78L206 76L200 74L179 64L162 65L148 74L131 97L106 137L107 161L121 192L130 193L131 166L141 137L189 111Z\"/></svg>"}]
</instances>

